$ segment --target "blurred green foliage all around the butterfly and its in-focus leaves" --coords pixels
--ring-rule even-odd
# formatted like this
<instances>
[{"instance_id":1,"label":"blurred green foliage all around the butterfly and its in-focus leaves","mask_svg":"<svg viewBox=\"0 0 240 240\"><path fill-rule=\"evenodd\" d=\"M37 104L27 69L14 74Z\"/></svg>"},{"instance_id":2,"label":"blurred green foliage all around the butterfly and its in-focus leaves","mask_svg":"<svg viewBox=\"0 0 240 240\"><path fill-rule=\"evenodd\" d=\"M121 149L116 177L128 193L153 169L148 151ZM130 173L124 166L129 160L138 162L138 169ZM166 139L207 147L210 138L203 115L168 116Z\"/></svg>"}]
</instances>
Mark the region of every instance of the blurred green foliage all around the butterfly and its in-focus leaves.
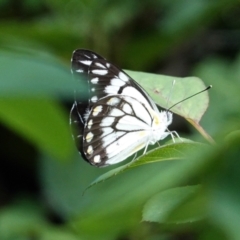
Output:
<instances>
[{"instance_id":1,"label":"blurred green foliage all around the butterfly and its in-focus leaves","mask_svg":"<svg viewBox=\"0 0 240 240\"><path fill-rule=\"evenodd\" d=\"M240 239L239 1L1 0L0 32L1 240ZM201 126L216 144L159 149L83 195L116 170L73 146L76 48L212 84ZM189 126L180 135L204 141Z\"/></svg>"}]
</instances>

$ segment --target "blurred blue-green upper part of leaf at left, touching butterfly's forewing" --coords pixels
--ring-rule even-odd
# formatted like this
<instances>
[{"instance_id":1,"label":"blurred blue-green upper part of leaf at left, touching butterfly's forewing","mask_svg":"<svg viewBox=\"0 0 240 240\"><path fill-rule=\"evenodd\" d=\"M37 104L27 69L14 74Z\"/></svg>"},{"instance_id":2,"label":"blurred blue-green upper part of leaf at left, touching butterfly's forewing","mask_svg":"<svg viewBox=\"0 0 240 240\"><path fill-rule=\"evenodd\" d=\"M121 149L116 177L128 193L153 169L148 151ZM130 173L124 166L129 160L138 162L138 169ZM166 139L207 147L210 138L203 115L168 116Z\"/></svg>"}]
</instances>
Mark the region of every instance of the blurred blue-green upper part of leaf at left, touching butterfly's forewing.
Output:
<instances>
[{"instance_id":1,"label":"blurred blue-green upper part of leaf at left, touching butterfly's forewing","mask_svg":"<svg viewBox=\"0 0 240 240\"><path fill-rule=\"evenodd\" d=\"M0 52L0 96L73 96L69 68L42 52L15 49Z\"/></svg>"}]
</instances>

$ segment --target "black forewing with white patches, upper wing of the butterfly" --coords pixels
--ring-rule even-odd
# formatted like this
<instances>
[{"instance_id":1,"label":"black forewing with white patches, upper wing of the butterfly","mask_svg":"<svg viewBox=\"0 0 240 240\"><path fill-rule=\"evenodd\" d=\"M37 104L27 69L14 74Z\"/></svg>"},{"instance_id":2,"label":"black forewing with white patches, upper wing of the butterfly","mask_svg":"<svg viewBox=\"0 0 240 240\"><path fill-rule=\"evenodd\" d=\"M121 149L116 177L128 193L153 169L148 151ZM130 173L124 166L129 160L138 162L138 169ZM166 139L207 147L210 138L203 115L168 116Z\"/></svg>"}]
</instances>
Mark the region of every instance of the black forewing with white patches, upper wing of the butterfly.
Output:
<instances>
[{"instance_id":1,"label":"black forewing with white patches, upper wing of the butterfly","mask_svg":"<svg viewBox=\"0 0 240 240\"><path fill-rule=\"evenodd\" d=\"M147 101L152 108L156 107L148 94L129 75L89 50L74 51L72 72L81 86L76 93L77 99L82 102L83 98L87 98L89 107L102 97L113 94L134 95L139 101Z\"/></svg>"}]
</instances>

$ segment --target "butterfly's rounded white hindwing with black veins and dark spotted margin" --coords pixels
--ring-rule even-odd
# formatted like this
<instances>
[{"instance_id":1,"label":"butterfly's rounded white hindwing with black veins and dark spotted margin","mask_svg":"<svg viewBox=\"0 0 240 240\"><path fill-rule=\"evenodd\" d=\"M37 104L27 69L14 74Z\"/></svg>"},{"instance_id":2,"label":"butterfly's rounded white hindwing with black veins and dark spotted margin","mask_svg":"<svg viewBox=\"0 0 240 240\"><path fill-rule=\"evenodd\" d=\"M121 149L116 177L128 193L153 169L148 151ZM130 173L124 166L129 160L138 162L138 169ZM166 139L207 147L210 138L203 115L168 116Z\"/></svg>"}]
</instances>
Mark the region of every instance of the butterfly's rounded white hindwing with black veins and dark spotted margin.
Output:
<instances>
[{"instance_id":1,"label":"butterfly's rounded white hindwing with black veins and dark spotted margin","mask_svg":"<svg viewBox=\"0 0 240 240\"><path fill-rule=\"evenodd\" d=\"M141 149L151 134L148 108L121 95L107 96L94 104L83 134L83 152L89 162L107 166Z\"/></svg>"}]
</instances>

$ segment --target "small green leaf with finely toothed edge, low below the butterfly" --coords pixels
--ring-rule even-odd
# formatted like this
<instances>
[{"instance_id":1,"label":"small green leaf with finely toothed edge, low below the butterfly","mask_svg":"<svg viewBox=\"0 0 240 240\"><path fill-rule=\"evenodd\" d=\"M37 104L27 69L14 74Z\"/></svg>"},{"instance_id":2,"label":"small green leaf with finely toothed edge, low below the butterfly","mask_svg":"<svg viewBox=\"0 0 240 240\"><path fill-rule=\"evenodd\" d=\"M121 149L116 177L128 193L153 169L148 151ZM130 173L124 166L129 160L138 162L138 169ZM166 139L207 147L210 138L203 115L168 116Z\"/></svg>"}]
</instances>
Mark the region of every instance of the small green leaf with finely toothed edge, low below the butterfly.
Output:
<instances>
[{"instance_id":1,"label":"small green leaf with finely toothed edge, low below the butterfly","mask_svg":"<svg viewBox=\"0 0 240 240\"><path fill-rule=\"evenodd\" d=\"M202 219L203 200L196 194L200 186L171 188L158 193L143 208L143 221L186 223Z\"/></svg>"}]
</instances>

